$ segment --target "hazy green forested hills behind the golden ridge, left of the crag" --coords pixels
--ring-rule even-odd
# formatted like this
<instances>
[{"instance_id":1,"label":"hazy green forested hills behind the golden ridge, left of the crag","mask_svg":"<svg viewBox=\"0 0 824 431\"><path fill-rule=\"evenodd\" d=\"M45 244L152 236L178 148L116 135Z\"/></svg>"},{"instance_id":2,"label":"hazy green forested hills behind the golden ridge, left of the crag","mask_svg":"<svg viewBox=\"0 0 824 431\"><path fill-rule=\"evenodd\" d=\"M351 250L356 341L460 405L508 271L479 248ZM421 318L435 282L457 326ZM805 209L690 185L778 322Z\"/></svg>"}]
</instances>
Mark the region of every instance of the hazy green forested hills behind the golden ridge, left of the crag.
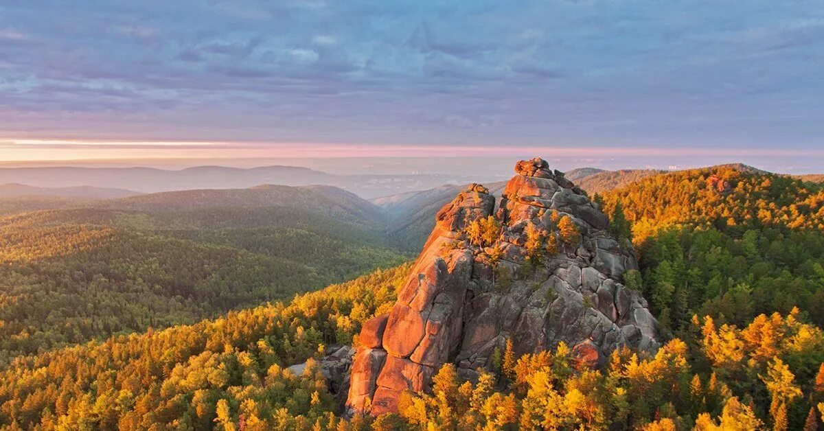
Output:
<instances>
[{"instance_id":1,"label":"hazy green forested hills behind the golden ridge, left of the crag","mask_svg":"<svg viewBox=\"0 0 824 431\"><path fill-rule=\"evenodd\" d=\"M197 199L149 195L141 210L0 218L0 363L287 299L409 258L389 244L377 208L343 190L303 200L232 191L211 204L193 190ZM96 205L133 208L125 201Z\"/></svg>"}]
</instances>

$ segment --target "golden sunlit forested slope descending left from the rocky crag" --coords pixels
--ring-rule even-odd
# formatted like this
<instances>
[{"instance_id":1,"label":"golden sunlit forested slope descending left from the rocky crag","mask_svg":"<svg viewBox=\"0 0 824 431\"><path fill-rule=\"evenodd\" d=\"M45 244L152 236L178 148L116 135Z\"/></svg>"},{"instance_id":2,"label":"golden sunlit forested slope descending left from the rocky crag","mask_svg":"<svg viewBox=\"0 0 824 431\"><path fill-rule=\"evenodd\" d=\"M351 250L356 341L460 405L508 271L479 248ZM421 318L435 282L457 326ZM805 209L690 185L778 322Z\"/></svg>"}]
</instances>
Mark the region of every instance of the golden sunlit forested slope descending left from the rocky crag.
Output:
<instances>
[{"instance_id":1,"label":"golden sunlit forested slope descending left from the rocky crag","mask_svg":"<svg viewBox=\"0 0 824 431\"><path fill-rule=\"evenodd\" d=\"M284 429L295 415L329 420L336 403L318 370L296 377L283 368L321 344L351 343L363 321L395 302L409 269L379 270L288 305L18 358L0 373L0 426L210 429L223 420L236 429L240 409L249 429Z\"/></svg>"}]
</instances>

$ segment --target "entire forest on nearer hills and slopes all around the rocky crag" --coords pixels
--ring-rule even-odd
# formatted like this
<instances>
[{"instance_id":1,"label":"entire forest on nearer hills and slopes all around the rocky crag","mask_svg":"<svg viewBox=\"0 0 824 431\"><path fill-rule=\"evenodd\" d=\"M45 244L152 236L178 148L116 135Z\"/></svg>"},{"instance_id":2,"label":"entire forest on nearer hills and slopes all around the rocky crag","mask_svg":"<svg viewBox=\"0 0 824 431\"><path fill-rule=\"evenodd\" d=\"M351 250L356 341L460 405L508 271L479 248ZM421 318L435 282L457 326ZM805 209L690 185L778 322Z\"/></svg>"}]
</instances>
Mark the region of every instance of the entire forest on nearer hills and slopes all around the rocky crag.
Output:
<instances>
[{"instance_id":1,"label":"entire forest on nearer hills and slopes all around the rocky crag","mask_svg":"<svg viewBox=\"0 0 824 431\"><path fill-rule=\"evenodd\" d=\"M349 222L313 231L297 220L326 216L289 222L294 209L268 226L145 210L7 216L0 425L822 429L822 187L719 166L647 176L594 199L634 246L639 270L625 285L648 300L663 347L619 349L591 369L565 344L523 355L507 344L476 380L444 365L431 391L406 393L399 413L378 417L346 417L333 393L340 382L318 361L358 346L410 265L302 292L408 260L391 239L363 237Z\"/></svg>"}]
</instances>

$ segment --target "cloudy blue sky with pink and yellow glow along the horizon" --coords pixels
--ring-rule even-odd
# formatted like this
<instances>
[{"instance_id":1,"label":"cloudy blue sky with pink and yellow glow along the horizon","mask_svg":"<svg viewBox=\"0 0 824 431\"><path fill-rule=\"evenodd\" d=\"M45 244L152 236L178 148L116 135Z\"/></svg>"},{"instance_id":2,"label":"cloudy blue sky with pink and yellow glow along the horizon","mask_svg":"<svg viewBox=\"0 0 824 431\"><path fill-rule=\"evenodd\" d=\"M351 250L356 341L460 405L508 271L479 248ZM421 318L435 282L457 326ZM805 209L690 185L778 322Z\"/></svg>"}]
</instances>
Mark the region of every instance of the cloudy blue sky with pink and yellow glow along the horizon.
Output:
<instances>
[{"instance_id":1,"label":"cloudy blue sky with pink and yellow glow along the horizon","mask_svg":"<svg viewBox=\"0 0 824 431\"><path fill-rule=\"evenodd\" d=\"M6 0L0 159L824 171L822 77L820 0Z\"/></svg>"}]
</instances>

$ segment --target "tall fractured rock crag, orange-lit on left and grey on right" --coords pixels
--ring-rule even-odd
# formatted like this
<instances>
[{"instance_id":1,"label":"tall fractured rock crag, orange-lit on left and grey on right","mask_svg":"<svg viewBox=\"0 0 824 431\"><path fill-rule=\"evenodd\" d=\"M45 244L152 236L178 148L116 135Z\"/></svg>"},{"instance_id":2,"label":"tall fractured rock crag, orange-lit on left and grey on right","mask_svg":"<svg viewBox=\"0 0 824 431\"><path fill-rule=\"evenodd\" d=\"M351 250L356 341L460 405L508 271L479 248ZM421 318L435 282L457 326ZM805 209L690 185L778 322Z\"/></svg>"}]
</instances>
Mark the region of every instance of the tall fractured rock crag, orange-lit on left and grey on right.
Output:
<instances>
[{"instance_id":1,"label":"tall fractured rock crag, orange-lit on left and grey on right","mask_svg":"<svg viewBox=\"0 0 824 431\"><path fill-rule=\"evenodd\" d=\"M515 354L563 341L593 367L620 345L658 349L647 302L620 283L634 254L606 232L606 216L540 158L515 171L497 211L473 184L438 212L395 306L359 335L350 412L396 411L401 392L427 389L447 361L472 377L508 339ZM500 226L491 243L467 235L490 215Z\"/></svg>"}]
</instances>

